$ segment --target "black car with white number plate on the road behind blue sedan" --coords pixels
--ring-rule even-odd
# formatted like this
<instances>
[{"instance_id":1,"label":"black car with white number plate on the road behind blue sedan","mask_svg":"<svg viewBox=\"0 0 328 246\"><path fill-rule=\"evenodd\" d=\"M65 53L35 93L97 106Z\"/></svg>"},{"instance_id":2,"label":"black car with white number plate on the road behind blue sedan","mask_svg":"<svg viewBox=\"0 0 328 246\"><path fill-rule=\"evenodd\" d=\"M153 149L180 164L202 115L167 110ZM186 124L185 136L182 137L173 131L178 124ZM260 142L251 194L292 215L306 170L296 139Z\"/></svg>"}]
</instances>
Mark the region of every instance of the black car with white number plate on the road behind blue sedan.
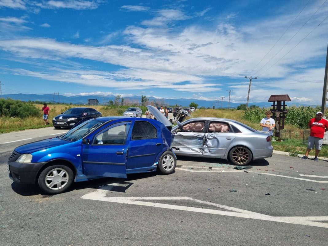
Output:
<instances>
[{"instance_id":1,"label":"black car with white number plate on the road behind blue sedan","mask_svg":"<svg viewBox=\"0 0 328 246\"><path fill-rule=\"evenodd\" d=\"M61 127L71 128L84 119L101 117L101 113L92 108L72 108L64 113L57 115L52 119L53 127L59 129Z\"/></svg>"}]
</instances>

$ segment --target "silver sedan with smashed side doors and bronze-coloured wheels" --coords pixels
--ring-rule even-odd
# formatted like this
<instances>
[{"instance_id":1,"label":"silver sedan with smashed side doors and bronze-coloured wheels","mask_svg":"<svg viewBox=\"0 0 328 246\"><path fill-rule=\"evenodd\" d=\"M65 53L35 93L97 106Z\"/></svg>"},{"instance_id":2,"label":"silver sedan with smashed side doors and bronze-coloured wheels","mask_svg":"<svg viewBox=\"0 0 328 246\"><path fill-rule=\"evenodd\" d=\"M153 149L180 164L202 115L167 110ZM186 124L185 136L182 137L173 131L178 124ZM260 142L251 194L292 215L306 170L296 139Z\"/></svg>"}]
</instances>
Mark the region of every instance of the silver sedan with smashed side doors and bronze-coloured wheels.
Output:
<instances>
[{"instance_id":1,"label":"silver sedan with smashed side doors and bronze-coloured wheels","mask_svg":"<svg viewBox=\"0 0 328 246\"><path fill-rule=\"evenodd\" d=\"M162 123L167 121L160 115L154 117ZM236 120L204 117L177 123L171 130L176 155L221 158L242 166L271 157L273 153L268 132L257 131Z\"/></svg>"}]
</instances>

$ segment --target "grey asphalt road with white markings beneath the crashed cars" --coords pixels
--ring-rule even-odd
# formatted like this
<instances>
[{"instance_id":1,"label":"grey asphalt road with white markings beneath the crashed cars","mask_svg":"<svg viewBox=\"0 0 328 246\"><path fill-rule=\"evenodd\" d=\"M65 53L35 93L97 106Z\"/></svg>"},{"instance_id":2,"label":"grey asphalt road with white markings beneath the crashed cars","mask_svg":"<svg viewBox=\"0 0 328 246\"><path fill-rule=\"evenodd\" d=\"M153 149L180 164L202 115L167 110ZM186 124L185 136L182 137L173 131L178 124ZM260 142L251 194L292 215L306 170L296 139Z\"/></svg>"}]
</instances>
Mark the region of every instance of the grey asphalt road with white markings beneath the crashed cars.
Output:
<instances>
[{"instance_id":1,"label":"grey asphalt road with white markings beneath the crashed cars","mask_svg":"<svg viewBox=\"0 0 328 246\"><path fill-rule=\"evenodd\" d=\"M65 131L0 134L1 245L327 245L326 161L274 154L246 173L178 157L171 175L80 182L59 195L9 179L16 146Z\"/></svg>"}]
</instances>

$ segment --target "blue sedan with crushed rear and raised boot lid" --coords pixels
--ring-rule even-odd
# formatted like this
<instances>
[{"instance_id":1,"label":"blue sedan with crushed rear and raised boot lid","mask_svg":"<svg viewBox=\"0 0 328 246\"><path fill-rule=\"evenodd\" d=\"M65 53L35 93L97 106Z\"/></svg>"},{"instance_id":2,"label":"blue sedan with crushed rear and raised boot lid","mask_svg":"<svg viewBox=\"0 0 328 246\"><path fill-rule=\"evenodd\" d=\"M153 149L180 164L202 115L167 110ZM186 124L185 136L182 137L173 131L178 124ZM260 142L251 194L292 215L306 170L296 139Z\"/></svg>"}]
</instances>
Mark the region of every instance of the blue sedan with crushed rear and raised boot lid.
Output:
<instances>
[{"instance_id":1,"label":"blue sedan with crushed rear and raised boot lid","mask_svg":"<svg viewBox=\"0 0 328 246\"><path fill-rule=\"evenodd\" d=\"M58 194L73 182L101 177L172 174L172 124L153 106L147 108L157 120L99 117L81 121L61 136L19 146L7 162L9 177Z\"/></svg>"}]
</instances>

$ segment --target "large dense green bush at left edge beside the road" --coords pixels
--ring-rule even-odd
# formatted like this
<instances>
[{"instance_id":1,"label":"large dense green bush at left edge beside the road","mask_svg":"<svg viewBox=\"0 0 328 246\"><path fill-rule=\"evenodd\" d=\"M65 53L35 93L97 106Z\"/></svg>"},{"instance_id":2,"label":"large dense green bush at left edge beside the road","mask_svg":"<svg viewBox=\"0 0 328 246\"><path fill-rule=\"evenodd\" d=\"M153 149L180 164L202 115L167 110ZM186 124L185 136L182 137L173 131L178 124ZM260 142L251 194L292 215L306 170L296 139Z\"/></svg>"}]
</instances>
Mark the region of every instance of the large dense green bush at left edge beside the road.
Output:
<instances>
[{"instance_id":1,"label":"large dense green bush at left edge beside the road","mask_svg":"<svg viewBox=\"0 0 328 246\"><path fill-rule=\"evenodd\" d=\"M41 116L41 109L36 108L31 102L22 102L13 99L0 99L0 115L7 117L26 118Z\"/></svg>"}]
</instances>

